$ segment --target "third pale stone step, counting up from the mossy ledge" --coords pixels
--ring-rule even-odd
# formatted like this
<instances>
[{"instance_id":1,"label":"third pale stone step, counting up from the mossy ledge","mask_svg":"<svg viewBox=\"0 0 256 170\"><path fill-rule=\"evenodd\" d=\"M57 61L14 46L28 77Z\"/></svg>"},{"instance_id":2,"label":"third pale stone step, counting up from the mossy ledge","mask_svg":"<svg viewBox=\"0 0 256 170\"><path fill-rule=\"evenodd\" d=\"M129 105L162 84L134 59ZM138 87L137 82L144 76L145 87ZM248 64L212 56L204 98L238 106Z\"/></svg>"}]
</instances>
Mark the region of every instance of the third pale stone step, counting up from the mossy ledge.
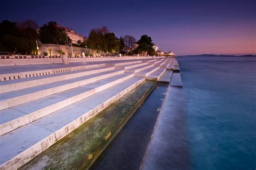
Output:
<instances>
[{"instance_id":1,"label":"third pale stone step, counting up from the mossy ledge","mask_svg":"<svg viewBox=\"0 0 256 170\"><path fill-rule=\"evenodd\" d=\"M0 98L1 110L14 107L19 104L37 100L45 96L49 96L60 91L68 90L78 86L82 86L86 83L105 79L106 77L124 73L124 70L110 70L107 72L96 73L91 75L85 75L82 77L76 77L74 79L63 80L41 86L30 87L21 90L9 91L2 93Z\"/></svg>"}]
</instances>

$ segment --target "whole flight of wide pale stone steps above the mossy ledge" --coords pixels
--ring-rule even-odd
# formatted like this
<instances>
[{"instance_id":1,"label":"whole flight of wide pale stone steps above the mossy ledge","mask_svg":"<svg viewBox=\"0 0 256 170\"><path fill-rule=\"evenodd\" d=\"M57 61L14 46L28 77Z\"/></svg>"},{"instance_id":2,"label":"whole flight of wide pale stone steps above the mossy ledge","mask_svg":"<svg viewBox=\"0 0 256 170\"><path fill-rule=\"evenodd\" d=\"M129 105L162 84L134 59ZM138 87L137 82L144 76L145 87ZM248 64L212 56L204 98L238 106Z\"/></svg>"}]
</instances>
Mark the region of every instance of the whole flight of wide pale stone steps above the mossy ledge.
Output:
<instances>
[{"instance_id":1,"label":"whole flight of wide pale stone steps above the mossy ledge","mask_svg":"<svg viewBox=\"0 0 256 170\"><path fill-rule=\"evenodd\" d=\"M174 58L113 61L1 81L0 169L21 167L143 81L158 81L175 64Z\"/></svg>"}]
</instances>

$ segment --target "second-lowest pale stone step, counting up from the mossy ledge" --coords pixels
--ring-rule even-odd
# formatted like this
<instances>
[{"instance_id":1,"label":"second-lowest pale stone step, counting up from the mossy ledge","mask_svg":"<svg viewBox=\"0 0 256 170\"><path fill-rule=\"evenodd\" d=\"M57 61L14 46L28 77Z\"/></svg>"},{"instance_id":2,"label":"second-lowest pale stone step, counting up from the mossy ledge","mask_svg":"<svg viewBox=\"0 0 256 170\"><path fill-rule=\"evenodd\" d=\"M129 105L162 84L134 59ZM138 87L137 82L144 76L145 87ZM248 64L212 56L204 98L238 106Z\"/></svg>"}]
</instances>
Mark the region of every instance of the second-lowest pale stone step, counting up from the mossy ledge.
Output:
<instances>
[{"instance_id":1,"label":"second-lowest pale stone step, counting up from the mossy ledge","mask_svg":"<svg viewBox=\"0 0 256 170\"><path fill-rule=\"evenodd\" d=\"M85 84L38 100L0 111L0 135L67 107L88 96L130 79L134 73L123 73L93 83Z\"/></svg>"}]
</instances>

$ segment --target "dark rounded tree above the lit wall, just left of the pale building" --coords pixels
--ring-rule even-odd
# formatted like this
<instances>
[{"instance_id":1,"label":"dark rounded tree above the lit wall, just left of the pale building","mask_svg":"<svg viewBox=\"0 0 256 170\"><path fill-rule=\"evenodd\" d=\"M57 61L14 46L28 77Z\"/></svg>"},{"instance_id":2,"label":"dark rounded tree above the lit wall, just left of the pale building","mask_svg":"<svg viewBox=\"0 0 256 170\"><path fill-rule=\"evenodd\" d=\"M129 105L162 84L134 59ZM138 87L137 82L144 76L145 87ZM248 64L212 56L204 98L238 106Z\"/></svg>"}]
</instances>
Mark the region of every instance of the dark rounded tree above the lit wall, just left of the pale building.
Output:
<instances>
[{"instance_id":1,"label":"dark rounded tree above the lit wall, just left of the pale building","mask_svg":"<svg viewBox=\"0 0 256 170\"><path fill-rule=\"evenodd\" d=\"M39 33L42 43L65 45L67 38L69 39L69 43L71 42L63 27L59 26L56 22L48 22L47 25L44 24L40 28Z\"/></svg>"}]
</instances>

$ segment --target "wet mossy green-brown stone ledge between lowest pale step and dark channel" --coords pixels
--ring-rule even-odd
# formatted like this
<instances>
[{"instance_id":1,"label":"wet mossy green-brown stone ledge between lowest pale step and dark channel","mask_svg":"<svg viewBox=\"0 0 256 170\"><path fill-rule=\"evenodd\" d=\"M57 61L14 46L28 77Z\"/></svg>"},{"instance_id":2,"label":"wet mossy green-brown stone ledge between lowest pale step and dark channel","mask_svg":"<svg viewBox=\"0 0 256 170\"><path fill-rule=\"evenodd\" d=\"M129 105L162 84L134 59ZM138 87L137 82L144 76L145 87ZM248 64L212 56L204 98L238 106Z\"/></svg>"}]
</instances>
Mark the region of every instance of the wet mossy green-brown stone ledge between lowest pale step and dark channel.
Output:
<instances>
[{"instance_id":1,"label":"wet mossy green-brown stone ledge between lowest pale step and dark channel","mask_svg":"<svg viewBox=\"0 0 256 170\"><path fill-rule=\"evenodd\" d=\"M88 168L154 87L145 81L20 169Z\"/></svg>"}]
</instances>

